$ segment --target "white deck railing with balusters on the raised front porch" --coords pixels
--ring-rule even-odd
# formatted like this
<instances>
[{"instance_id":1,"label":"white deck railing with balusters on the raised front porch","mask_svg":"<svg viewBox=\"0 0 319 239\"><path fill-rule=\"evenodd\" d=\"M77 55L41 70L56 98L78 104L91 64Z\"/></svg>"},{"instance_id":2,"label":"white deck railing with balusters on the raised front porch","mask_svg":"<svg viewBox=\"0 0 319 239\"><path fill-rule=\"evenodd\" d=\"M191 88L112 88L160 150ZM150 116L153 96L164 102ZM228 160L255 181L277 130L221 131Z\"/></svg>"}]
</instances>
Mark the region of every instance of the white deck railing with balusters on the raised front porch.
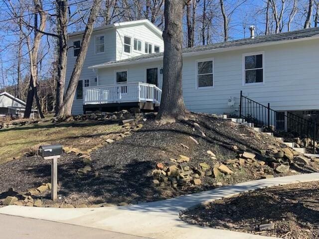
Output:
<instances>
[{"instance_id":1,"label":"white deck railing with balusters on the raised front porch","mask_svg":"<svg viewBox=\"0 0 319 239\"><path fill-rule=\"evenodd\" d=\"M125 102L152 102L160 104L161 90L143 82L122 83L83 88L83 104L111 104Z\"/></svg>"}]
</instances>

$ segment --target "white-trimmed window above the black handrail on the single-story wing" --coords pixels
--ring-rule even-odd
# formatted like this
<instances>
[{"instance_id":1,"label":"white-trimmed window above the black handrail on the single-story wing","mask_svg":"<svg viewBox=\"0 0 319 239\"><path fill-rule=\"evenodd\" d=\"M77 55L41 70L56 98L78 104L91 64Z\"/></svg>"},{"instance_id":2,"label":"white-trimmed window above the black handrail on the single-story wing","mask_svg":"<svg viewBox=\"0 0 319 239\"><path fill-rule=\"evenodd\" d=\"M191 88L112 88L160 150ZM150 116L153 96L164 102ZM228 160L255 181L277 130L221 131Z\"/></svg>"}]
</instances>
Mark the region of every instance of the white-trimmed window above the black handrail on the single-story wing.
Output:
<instances>
[{"instance_id":1,"label":"white-trimmed window above the black handrail on the single-story wing","mask_svg":"<svg viewBox=\"0 0 319 239\"><path fill-rule=\"evenodd\" d=\"M263 68L263 53L252 53L243 55L244 63L244 83L263 83L264 68Z\"/></svg>"}]
</instances>

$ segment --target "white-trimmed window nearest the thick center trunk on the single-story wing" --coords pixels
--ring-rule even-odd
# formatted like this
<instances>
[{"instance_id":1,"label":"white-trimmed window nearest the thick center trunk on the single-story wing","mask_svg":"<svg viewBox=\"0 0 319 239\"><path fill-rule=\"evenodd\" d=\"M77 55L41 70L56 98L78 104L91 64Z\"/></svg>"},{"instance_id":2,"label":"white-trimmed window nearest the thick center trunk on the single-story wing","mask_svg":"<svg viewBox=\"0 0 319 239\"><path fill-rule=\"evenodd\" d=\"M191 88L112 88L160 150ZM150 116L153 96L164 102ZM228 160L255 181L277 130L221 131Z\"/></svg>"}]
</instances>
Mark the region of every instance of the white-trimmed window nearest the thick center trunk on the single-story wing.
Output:
<instances>
[{"instance_id":1,"label":"white-trimmed window nearest the thick center trunk on the single-story wing","mask_svg":"<svg viewBox=\"0 0 319 239\"><path fill-rule=\"evenodd\" d=\"M214 76L213 67L214 62L212 59L200 60L196 63L196 85L197 88L213 87Z\"/></svg>"}]
</instances>

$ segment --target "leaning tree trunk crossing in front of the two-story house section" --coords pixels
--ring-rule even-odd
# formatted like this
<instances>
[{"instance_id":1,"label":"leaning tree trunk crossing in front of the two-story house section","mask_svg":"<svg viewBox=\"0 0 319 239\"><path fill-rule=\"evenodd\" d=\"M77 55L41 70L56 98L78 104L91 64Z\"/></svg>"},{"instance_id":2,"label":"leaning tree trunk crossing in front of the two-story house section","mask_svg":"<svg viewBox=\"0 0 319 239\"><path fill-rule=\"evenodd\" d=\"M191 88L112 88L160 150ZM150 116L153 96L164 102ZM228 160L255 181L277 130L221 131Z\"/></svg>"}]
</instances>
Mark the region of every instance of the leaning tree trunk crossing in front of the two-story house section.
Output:
<instances>
[{"instance_id":1,"label":"leaning tree trunk crossing in front of the two-story house section","mask_svg":"<svg viewBox=\"0 0 319 239\"><path fill-rule=\"evenodd\" d=\"M89 47L90 38L93 31L94 22L96 20L97 14L100 9L102 0L94 0L91 8L91 12L89 15L88 22L86 24L86 28L83 34L80 53L76 58L75 65L73 68L73 72L70 78L70 82L68 88L66 90L63 106L59 111L59 117L63 116L71 116L72 104L75 96L76 87L78 85L78 81L80 78L80 74L83 68L83 63L85 60L85 56Z\"/></svg>"}]
</instances>

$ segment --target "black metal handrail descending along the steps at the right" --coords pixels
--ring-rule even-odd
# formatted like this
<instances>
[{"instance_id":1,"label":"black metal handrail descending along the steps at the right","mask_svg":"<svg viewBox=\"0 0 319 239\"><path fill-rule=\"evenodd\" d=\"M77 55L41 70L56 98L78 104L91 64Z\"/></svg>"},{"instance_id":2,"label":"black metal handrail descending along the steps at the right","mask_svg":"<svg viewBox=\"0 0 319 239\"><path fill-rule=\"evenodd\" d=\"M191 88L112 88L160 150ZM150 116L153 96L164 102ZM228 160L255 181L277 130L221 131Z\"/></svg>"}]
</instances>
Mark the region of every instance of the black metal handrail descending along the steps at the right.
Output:
<instances>
[{"instance_id":1,"label":"black metal handrail descending along the steps at the right","mask_svg":"<svg viewBox=\"0 0 319 239\"><path fill-rule=\"evenodd\" d=\"M315 152L315 141L317 125L308 119L287 112L278 112L262 105L248 97L243 96L240 91L239 116L258 126L265 127L272 132L290 132L295 137L307 138L304 147L309 147L308 138L311 139L312 148Z\"/></svg>"}]
</instances>

